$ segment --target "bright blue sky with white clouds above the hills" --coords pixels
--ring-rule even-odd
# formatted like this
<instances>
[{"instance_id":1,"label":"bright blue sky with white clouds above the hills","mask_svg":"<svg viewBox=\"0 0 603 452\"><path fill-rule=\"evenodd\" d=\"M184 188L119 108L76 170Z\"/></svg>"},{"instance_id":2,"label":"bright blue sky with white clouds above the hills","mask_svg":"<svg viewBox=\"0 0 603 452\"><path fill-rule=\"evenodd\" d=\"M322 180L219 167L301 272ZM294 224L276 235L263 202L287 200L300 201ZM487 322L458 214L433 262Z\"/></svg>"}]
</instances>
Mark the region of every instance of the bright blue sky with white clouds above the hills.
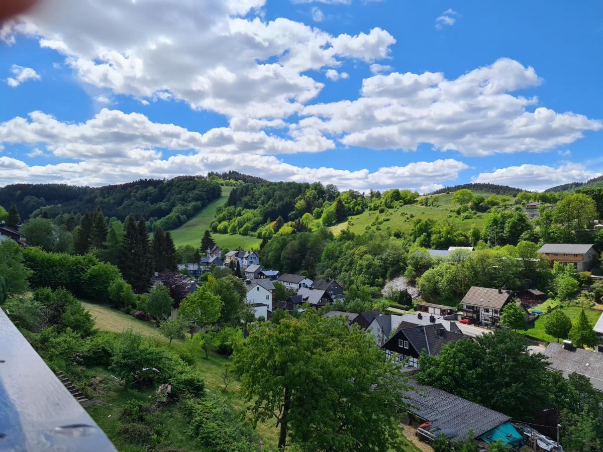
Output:
<instances>
[{"instance_id":1,"label":"bright blue sky with white clouds above the hills","mask_svg":"<svg viewBox=\"0 0 603 452\"><path fill-rule=\"evenodd\" d=\"M603 173L601 2L172 3L46 0L4 25L0 185Z\"/></svg>"}]
</instances>

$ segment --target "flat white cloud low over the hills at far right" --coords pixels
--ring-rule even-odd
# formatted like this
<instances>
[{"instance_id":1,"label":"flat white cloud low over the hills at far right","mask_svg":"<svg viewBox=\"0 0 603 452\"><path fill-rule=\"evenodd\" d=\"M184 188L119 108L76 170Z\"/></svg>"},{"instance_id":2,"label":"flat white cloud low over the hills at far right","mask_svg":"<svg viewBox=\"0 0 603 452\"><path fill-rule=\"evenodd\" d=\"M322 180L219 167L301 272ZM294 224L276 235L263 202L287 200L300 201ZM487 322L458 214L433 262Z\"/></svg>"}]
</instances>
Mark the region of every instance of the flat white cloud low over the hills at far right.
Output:
<instances>
[{"instance_id":1,"label":"flat white cloud low over the hills at far right","mask_svg":"<svg viewBox=\"0 0 603 452\"><path fill-rule=\"evenodd\" d=\"M519 187L526 190L545 190L556 185L584 181L599 172L590 171L579 163L564 163L560 166L519 165L482 172L473 181Z\"/></svg>"}]
</instances>

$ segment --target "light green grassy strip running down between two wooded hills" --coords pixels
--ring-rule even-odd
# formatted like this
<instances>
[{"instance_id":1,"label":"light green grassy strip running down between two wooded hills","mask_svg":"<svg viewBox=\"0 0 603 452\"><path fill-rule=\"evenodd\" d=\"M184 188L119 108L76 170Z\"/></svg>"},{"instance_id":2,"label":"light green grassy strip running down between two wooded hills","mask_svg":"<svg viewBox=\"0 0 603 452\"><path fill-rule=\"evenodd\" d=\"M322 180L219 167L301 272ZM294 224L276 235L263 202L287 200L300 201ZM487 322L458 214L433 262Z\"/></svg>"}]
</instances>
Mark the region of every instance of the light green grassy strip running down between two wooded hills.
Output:
<instances>
[{"instance_id":1,"label":"light green grassy strip running down between two wooded hills","mask_svg":"<svg viewBox=\"0 0 603 452\"><path fill-rule=\"evenodd\" d=\"M210 225L216 218L216 210L218 207L226 204L232 188L233 187L222 187L222 196L207 204L201 212L179 228L169 231L172 234L176 246L199 246L203 233L206 229L210 228ZM230 235L212 233L212 237L218 246L221 248L228 248L229 250L234 250L239 246L245 250L250 250L251 248L257 249L259 248L261 241L260 239L256 239L256 237L241 236L239 234Z\"/></svg>"}]
</instances>

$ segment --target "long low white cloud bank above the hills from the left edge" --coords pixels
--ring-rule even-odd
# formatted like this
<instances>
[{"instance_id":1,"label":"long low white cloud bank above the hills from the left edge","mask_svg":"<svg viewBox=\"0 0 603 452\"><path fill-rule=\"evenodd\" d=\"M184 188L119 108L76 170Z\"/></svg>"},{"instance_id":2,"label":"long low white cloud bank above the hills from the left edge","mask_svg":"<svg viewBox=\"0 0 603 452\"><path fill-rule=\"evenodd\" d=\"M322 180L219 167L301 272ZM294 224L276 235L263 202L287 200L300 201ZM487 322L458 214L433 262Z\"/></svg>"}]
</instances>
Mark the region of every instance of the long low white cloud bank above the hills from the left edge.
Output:
<instances>
[{"instance_id":1,"label":"long low white cloud bank above the hills from the left edge","mask_svg":"<svg viewBox=\"0 0 603 452\"><path fill-rule=\"evenodd\" d=\"M280 126L279 120L270 124L270 127ZM268 126L256 124L255 127ZM268 136L263 131L241 132L230 128L215 128L202 134L173 124L151 122L140 113L125 114L107 109L79 124L60 122L34 111L27 119L17 117L0 123L0 143L45 145L48 152L77 161L29 166L21 160L0 157L0 168L10 169L0 171L0 185L62 182L98 186L144 177L236 169L269 180L320 180L335 183L341 189L403 187L426 191L458 178L459 172L468 168L454 159L415 162L374 172L300 167L266 154L318 149L330 143L304 130L295 130L291 139ZM178 154L165 159L164 149ZM40 155L39 152L32 154Z\"/></svg>"}]
</instances>

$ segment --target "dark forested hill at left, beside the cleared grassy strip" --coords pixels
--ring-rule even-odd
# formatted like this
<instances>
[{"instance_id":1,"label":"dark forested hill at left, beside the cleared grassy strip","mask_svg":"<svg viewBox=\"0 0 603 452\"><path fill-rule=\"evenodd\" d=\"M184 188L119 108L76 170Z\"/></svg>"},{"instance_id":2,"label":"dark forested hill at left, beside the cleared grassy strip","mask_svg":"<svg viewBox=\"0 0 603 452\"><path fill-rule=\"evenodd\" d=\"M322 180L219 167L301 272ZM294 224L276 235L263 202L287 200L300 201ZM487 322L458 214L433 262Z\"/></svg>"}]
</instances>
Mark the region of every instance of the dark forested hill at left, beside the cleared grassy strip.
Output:
<instances>
[{"instance_id":1,"label":"dark forested hill at left, beside the cleared grassy strip","mask_svg":"<svg viewBox=\"0 0 603 452\"><path fill-rule=\"evenodd\" d=\"M15 204L22 219L30 216L77 215L100 207L104 215L120 221L130 214L162 219L163 228L178 227L182 220L203 209L221 193L217 177L180 176L171 180L141 179L103 187L66 184L14 184L0 188L0 206Z\"/></svg>"}]
</instances>

